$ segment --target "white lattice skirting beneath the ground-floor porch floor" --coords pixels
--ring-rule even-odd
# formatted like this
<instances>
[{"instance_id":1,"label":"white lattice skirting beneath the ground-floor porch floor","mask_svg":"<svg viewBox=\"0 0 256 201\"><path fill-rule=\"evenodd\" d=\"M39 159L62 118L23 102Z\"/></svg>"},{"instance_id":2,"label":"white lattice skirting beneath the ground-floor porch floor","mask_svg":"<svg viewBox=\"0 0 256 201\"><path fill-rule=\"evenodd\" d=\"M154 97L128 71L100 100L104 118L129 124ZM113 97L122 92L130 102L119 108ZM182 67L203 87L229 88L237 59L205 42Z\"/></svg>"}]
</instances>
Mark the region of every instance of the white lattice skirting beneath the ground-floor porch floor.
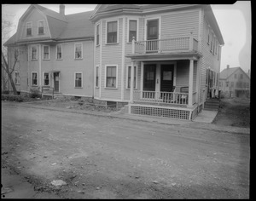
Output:
<instances>
[{"instance_id":1,"label":"white lattice skirting beneath the ground-floor porch floor","mask_svg":"<svg viewBox=\"0 0 256 201\"><path fill-rule=\"evenodd\" d=\"M194 111L191 111L191 110L182 110L182 109L174 109L174 108L131 105L131 114L157 116L157 117L164 117L164 118L179 118L179 119L191 120L191 117L195 118L195 115L196 115L195 111L196 109ZM193 112L193 116L190 114L190 112Z\"/></svg>"}]
</instances>

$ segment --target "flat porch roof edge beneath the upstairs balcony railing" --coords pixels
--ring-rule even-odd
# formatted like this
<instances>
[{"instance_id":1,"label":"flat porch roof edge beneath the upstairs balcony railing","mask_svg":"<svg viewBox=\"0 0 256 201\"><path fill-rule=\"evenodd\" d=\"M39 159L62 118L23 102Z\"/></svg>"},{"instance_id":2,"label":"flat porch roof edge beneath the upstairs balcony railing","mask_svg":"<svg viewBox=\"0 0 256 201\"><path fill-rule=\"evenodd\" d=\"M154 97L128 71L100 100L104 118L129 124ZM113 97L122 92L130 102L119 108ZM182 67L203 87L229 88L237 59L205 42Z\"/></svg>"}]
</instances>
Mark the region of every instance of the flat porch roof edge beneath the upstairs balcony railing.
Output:
<instances>
[{"instance_id":1,"label":"flat porch roof edge beneath the upstairs balcony railing","mask_svg":"<svg viewBox=\"0 0 256 201\"><path fill-rule=\"evenodd\" d=\"M148 53L148 54L127 54L131 60L198 60L202 55L199 52L186 53Z\"/></svg>"}]
</instances>

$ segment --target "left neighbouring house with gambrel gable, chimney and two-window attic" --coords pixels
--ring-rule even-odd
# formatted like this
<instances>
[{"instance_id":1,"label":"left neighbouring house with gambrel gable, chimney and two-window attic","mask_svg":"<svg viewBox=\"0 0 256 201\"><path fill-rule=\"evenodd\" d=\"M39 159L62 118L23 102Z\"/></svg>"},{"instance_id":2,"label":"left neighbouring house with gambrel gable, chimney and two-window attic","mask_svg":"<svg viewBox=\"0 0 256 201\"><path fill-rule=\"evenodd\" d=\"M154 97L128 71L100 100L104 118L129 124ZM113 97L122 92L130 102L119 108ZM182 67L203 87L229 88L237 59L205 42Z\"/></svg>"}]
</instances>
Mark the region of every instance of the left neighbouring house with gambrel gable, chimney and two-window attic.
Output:
<instances>
[{"instance_id":1,"label":"left neighbouring house with gambrel gable, chimney and two-window attic","mask_svg":"<svg viewBox=\"0 0 256 201\"><path fill-rule=\"evenodd\" d=\"M63 4L59 13L37 4L26 9L17 32L4 43L9 65L16 60L13 76L18 92L39 89L43 94L93 97L90 14L65 14Z\"/></svg>"}]
</instances>

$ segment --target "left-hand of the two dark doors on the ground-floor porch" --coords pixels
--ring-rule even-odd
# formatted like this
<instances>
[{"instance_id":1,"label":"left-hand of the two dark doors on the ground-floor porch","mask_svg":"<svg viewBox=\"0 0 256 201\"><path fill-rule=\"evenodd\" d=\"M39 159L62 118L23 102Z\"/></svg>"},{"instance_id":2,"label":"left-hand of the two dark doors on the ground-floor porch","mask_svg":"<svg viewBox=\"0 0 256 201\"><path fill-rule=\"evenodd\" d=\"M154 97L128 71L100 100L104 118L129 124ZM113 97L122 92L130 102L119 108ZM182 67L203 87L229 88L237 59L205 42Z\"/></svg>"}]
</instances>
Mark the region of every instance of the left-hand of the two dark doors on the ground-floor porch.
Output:
<instances>
[{"instance_id":1,"label":"left-hand of the two dark doors on the ground-floor porch","mask_svg":"<svg viewBox=\"0 0 256 201\"><path fill-rule=\"evenodd\" d=\"M155 64L144 65L143 91L155 91ZM149 98L154 98L154 93L150 93ZM147 95L143 94L143 97Z\"/></svg>"}]
</instances>

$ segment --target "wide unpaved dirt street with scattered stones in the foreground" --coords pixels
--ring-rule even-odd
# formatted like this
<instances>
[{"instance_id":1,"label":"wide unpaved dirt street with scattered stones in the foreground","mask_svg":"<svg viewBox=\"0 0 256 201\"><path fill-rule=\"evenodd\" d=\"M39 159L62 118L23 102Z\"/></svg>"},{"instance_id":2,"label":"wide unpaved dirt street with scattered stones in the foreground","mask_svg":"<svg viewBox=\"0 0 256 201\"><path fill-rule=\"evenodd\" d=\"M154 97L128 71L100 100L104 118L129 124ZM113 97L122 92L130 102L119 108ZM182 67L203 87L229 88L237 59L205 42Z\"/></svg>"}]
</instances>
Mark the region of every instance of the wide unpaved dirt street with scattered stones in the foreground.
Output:
<instances>
[{"instance_id":1,"label":"wide unpaved dirt street with scattered stones in the foreground","mask_svg":"<svg viewBox=\"0 0 256 201\"><path fill-rule=\"evenodd\" d=\"M2 102L2 166L61 198L249 198L249 144L247 134Z\"/></svg>"}]
</instances>

